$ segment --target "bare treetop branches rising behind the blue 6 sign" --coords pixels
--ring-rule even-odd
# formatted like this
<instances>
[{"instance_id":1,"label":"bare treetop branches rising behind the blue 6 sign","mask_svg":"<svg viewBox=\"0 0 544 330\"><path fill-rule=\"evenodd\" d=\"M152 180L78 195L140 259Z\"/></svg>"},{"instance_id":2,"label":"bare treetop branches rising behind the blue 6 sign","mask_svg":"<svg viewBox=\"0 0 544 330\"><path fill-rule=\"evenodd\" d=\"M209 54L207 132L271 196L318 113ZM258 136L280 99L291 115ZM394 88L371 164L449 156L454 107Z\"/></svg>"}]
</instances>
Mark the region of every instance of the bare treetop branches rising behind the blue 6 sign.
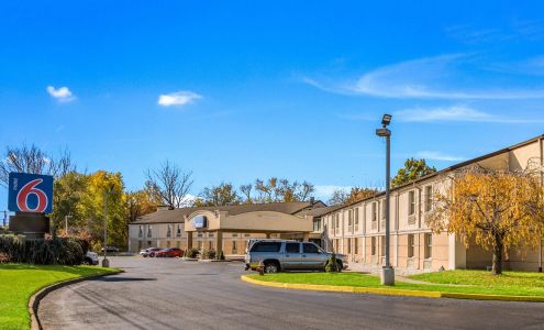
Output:
<instances>
[{"instance_id":1,"label":"bare treetop branches rising behind the blue 6 sign","mask_svg":"<svg viewBox=\"0 0 544 330\"><path fill-rule=\"evenodd\" d=\"M57 157L53 157L34 144L8 146L0 160L0 185L8 186L11 172L45 174L58 178L74 170L76 165L66 150Z\"/></svg>"}]
</instances>

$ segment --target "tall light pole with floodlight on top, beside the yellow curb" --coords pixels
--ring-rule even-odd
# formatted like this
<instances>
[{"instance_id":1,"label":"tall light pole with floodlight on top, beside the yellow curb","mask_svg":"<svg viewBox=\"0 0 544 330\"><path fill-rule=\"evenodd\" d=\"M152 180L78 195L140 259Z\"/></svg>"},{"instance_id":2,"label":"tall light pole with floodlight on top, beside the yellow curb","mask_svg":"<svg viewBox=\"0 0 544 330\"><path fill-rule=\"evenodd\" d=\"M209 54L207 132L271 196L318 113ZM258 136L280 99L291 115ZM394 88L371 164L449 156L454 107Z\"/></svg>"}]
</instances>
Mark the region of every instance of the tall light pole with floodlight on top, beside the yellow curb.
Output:
<instances>
[{"instance_id":1,"label":"tall light pole with floodlight on top, beside the yellow curb","mask_svg":"<svg viewBox=\"0 0 544 330\"><path fill-rule=\"evenodd\" d=\"M381 284L395 285L395 270L390 263L389 242L390 242L390 183L391 183L391 131L387 127L391 123L391 114L384 114L381 128L376 130L376 135L386 138L386 264L381 267Z\"/></svg>"}]
</instances>

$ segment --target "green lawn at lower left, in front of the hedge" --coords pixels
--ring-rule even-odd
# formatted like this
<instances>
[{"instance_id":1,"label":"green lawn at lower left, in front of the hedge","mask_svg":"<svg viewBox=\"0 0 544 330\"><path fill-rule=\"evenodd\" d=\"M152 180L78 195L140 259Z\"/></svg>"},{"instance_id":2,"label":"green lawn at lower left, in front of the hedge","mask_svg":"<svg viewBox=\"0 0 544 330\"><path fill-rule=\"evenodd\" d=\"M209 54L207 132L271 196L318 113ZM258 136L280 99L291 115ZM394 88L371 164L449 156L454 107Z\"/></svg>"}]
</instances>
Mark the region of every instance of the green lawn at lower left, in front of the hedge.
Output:
<instances>
[{"instance_id":1,"label":"green lawn at lower left, in front of the hedge","mask_svg":"<svg viewBox=\"0 0 544 330\"><path fill-rule=\"evenodd\" d=\"M0 329L30 329L29 300L41 288L113 271L92 266L0 265Z\"/></svg>"}]
</instances>

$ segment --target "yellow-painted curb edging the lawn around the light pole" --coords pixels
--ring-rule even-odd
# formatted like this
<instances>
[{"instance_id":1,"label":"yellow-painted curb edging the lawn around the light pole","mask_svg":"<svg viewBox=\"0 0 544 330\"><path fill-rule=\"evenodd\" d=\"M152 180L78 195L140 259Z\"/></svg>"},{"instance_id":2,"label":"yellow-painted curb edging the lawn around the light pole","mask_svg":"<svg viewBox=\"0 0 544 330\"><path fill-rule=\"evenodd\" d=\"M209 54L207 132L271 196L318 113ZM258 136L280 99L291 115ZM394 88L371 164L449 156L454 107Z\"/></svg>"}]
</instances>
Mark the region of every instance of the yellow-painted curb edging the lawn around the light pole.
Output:
<instances>
[{"instance_id":1,"label":"yellow-painted curb edging the lawn around the light pole","mask_svg":"<svg viewBox=\"0 0 544 330\"><path fill-rule=\"evenodd\" d=\"M460 293L424 292L424 290L408 290L408 289L392 289L392 288L377 288L377 287L264 282L264 280L251 278L247 275L242 275L241 279L255 285L288 288L288 289L300 289L300 290L375 294L375 295L386 295L386 296L409 296L409 297L424 297L424 298L544 302L544 297L535 297L535 296L460 294Z\"/></svg>"}]
</instances>

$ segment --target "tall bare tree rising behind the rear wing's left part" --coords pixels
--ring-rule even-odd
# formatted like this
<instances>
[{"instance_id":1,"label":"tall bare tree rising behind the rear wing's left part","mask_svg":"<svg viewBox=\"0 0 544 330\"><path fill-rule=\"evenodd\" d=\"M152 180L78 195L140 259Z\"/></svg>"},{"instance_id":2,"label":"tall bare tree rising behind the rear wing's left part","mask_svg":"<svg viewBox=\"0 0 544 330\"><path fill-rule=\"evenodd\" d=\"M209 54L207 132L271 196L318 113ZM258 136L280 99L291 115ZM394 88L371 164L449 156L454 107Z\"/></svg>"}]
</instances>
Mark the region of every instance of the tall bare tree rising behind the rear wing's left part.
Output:
<instances>
[{"instance_id":1,"label":"tall bare tree rising behind the rear wing's left part","mask_svg":"<svg viewBox=\"0 0 544 330\"><path fill-rule=\"evenodd\" d=\"M192 172L182 172L168 160L158 169L147 169L146 187L169 208L180 208L192 186Z\"/></svg>"}]
</instances>

